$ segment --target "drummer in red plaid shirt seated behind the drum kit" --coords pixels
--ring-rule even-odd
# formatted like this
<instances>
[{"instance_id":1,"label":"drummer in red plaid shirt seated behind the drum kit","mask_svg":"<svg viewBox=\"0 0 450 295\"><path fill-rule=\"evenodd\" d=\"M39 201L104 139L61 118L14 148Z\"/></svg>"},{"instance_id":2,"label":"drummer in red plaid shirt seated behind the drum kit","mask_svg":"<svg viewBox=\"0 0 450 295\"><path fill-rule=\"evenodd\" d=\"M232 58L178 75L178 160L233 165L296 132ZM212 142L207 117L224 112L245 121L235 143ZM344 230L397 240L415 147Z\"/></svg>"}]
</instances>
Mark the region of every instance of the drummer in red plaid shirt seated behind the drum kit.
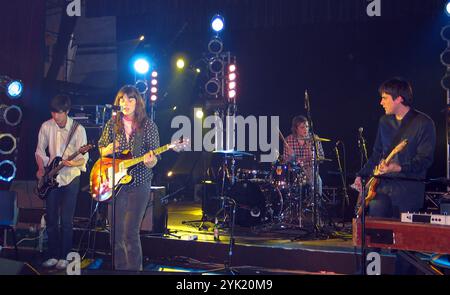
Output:
<instances>
[{"instance_id":1,"label":"drummer in red plaid shirt seated behind the drum kit","mask_svg":"<svg viewBox=\"0 0 450 295\"><path fill-rule=\"evenodd\" d=\"M292 119L292 134L286 137L283 159L303 168L306 175L306 183L312 184L314 164L314 141L309 132L308 120L304 116L296 116ZM317 142L318 156L324 158L322 143ZM322 194L322 179L318 177L319 194Z\"/></svg>"}]
</instances>

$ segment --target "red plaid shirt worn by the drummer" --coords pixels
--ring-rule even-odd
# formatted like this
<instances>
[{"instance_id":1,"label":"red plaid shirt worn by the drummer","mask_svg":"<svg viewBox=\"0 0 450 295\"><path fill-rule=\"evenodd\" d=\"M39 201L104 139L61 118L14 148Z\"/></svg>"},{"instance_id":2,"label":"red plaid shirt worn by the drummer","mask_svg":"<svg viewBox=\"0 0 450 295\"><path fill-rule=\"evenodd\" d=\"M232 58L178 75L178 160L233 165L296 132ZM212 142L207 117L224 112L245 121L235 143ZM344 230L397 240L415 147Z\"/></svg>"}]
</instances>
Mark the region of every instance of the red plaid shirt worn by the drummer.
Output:
<instances>
[{"instance_id":1,"label":"red plaid shirt worn by the drummer","mask_svg":"<svg viewBox=\"0 0 450 295\"><path fill-rule=\"evenodd\" d=\"M313 179L314 141L312 138L303 138L304 144L300 145L300 140L302 140L302 138L296 137L293 134L286 137L286 143L294 151L294 154L289 154L289 149L285 144L283 159L288 162L298 163L305 171L306 181L311 183ZM317 144L319 146L319 158L323 158L324 152L322 143L319 141Z\"/></svg>"}]
</instances>

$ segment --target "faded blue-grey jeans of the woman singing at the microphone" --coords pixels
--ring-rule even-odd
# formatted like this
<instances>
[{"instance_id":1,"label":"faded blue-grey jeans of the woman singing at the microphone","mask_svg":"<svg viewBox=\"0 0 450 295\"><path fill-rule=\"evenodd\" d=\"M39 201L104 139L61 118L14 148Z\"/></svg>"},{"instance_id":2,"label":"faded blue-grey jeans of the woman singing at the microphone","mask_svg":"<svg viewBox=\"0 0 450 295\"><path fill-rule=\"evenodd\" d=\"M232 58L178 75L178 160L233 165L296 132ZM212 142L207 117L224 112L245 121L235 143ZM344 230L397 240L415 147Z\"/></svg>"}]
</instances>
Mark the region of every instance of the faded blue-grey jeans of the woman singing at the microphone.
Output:
<instances>
[{"instance_id":1,"label":"faded blue-grey jeans of the woman singing at the microphone","mask_svg":"<svg viewBox=\"0 0 450 295\"><path fill-rule=\"evenodd\" d=\"M117 270L142 270L140 229L150 189L150 184L124 186L116 196L114 264Z\"/></svg>"}]
</instances>

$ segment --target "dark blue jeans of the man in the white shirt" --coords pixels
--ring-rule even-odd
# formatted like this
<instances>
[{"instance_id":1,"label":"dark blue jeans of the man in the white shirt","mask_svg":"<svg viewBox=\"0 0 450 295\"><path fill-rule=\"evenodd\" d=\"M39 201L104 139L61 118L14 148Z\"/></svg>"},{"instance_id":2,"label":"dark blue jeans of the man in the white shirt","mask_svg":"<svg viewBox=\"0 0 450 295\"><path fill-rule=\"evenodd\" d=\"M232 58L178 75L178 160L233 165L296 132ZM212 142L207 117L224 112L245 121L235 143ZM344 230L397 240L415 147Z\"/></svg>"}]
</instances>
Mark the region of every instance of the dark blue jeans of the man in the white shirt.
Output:
<instances>
[{"instance_id":1,"label":"dark blue jeans of the man in the white shirt","mask_svg":"<svg viewBox=\"0 0 450 295\"><path fill-rule=\"evenodd\" d=\"M47 197L47 258L66 259L72 250L73 216L79 188L78 176L68 185L52 189Z\"/></svg>"}]
</instances>

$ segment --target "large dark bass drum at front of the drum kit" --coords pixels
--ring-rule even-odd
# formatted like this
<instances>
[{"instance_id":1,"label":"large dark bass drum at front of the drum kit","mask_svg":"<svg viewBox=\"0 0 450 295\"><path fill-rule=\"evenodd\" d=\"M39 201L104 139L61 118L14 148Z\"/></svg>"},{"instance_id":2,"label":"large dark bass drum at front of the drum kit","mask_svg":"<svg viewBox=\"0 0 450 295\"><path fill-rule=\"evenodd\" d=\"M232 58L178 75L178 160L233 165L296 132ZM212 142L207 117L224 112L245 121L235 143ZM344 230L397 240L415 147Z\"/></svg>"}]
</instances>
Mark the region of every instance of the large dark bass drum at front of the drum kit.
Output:
<instances>
[{"instance_id":1,"label":"large dark bass drum at front of the drum kit","mask_svg":"<svg viewBox=\"0 0 450 295\"><path fill-rule=\"evenodd\" d=\"M261 225L280 218L283 195L271 183L244 180L230 189L236 201L236 224L244 227Z\"/></svg>"}]
</instances>

